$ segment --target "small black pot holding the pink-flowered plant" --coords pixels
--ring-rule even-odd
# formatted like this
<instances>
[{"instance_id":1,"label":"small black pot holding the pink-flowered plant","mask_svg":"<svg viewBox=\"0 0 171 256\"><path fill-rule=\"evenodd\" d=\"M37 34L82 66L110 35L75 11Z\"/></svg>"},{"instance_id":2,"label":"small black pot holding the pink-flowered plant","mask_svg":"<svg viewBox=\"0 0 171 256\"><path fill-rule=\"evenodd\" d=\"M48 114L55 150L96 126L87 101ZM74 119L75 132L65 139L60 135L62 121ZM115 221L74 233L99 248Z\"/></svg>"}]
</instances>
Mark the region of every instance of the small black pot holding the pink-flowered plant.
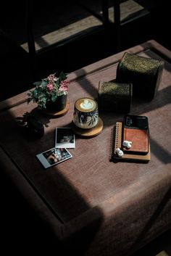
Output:
<instances>
[{"instance_id":1,"label":"small black pot holding the pink-flowered plant","mask_svg":"<svg viewBox=\"0 0 171 256\"><path fill-rule=\"evenodd\" d=\"M47 102L46 103L46 110L51 112L59 112L64 110L67 105L67 94L63 94L57 97L56 102Z\"/></svg>"}]
</instances>

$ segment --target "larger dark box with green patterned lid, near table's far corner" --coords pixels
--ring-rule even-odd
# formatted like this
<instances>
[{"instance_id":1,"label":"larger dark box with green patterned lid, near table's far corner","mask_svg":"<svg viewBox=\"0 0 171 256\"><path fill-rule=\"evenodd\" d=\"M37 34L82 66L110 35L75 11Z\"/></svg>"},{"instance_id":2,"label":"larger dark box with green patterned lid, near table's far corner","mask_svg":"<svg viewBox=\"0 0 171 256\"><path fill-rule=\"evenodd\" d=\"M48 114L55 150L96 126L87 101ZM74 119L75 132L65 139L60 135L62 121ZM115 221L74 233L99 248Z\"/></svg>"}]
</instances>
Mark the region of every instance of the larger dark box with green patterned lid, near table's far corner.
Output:
<instances>
[{"instance_id":1,"label":"larger dark box with green patterned lid, near table's far corner","mask_svg":"<svg viewBox=\"0 0 171 256\"><path fill-rule=\"evenodd\" d=\"M133 97L154 99L162 77L162 60L125 52L117 66L117 83L133 83Z\"/></svg>"}]
</instances>

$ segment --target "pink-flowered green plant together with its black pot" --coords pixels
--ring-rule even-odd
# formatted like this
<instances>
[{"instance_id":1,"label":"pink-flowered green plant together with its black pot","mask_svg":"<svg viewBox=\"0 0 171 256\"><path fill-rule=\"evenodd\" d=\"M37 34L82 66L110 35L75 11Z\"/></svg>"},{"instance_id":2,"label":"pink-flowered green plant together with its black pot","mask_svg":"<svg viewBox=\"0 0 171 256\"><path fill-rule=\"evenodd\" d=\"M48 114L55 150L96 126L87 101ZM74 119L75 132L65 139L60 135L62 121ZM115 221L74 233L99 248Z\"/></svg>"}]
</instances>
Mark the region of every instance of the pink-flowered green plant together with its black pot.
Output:
<instances>
[{"instance_id":1,"label":"pink-flowered green plant together with its black pot","mask_svg":"<svg viewBox=\"0 0 171 256\"><path fill-rule=\"evenodd\" d=\"M61 111L66 107L68 86L67 74L61 72L43 78L41 81L33 83L36 86L28 92L28 103L33 101L38 104L40 110Z\"/></svg>"}]
</instances>

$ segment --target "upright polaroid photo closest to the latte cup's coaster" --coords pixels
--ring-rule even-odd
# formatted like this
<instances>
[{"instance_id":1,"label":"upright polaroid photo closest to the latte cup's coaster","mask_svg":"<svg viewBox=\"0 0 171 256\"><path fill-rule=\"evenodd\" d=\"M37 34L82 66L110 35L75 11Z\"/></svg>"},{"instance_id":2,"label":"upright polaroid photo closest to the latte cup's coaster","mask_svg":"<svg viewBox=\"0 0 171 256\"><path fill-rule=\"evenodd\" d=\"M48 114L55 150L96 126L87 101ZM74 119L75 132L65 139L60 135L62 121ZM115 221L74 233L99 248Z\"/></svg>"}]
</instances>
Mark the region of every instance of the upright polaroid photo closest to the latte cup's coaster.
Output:
<instances>
[{"instance_id":1,"label":"upright polaroid photo closest to the latte cup's coaster","mask_svg":"<svg viewBox=\"0 0 171 256\"><path fill-rule=\"evenodd\" d=\"M56 128L55 145L56 148L75 148L75 133L71 128Z\"/></svg>"}]
</instances>

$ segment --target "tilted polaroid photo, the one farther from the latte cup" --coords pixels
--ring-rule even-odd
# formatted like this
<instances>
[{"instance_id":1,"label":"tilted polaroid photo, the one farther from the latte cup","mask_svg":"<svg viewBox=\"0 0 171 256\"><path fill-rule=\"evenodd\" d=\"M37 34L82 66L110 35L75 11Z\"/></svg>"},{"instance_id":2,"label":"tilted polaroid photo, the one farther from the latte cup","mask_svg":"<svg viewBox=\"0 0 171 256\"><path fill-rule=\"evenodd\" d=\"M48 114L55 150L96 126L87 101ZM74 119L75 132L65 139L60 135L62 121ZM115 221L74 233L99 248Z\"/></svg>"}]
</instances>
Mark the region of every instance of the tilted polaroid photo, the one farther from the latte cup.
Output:
<instances>
[{"instance_id":1,"label":"tilted polaroid photo, the one farther from the latte cup","mask_svg":"<svg viewBox=\"0 0 171 256\"><path fill-rule=\"evenodd\" d=\"M57 165L60 162L68 160L72 157L72 154L67 149L49 149L41 154L37 154L36 157L41 162L44 168L49 168L53 165Z\"/></svg>"}]
</instances>

